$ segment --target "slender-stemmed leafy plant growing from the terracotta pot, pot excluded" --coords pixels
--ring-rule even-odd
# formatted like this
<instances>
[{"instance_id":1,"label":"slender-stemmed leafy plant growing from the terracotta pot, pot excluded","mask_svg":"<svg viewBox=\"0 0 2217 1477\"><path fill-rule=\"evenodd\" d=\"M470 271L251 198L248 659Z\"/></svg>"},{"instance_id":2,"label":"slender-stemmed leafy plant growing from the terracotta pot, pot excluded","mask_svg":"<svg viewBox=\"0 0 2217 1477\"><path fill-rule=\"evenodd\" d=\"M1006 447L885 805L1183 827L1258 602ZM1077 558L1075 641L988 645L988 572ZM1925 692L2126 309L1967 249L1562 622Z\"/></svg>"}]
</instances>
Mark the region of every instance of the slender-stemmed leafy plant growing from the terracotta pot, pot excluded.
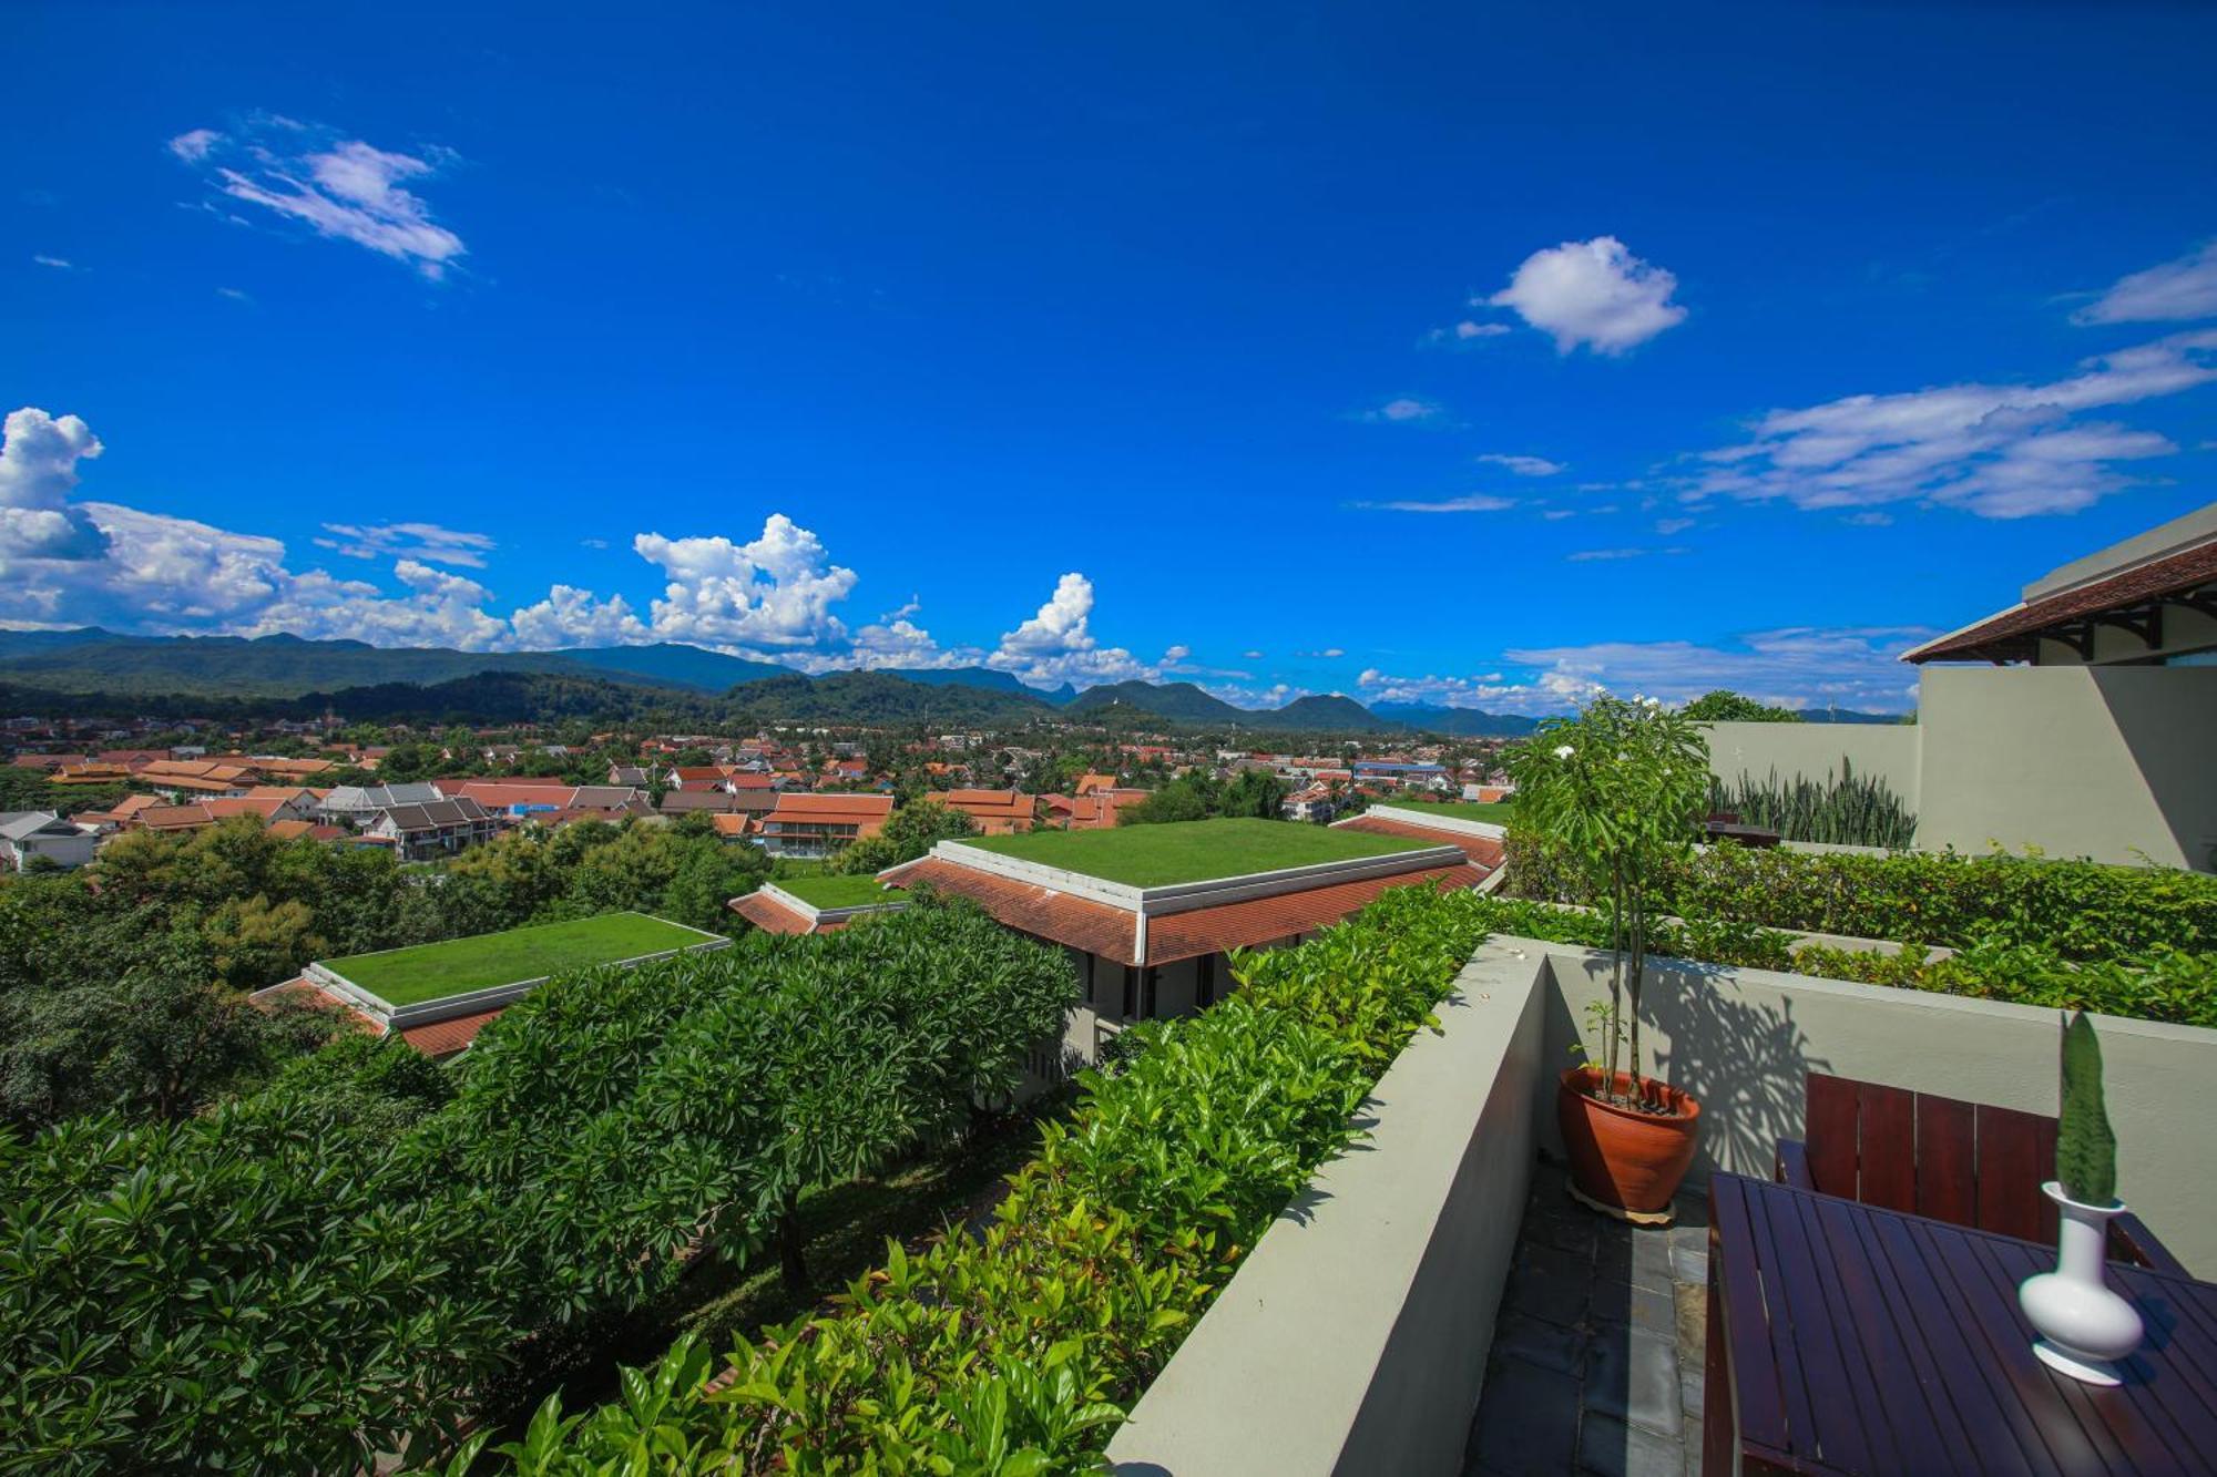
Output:
<instances>
[{"instance_id":1,"label":"slender-stemmed leafy plant growing from the terracotta pot, pot excluded","mask_svg":"<svg viewBox=\"0 0 2217 1477\"><path fill-rule=\"evenodd\" d=\"M1645 1098L1641 985L1654 887L1694 845L1709 798L1709 745L1654 699L1596 696L1576 719L1547 719L1508 754L1516 821L1581 867L1610 918L1607 1071L1601 1096ZM1629 1036L1629 1093L1616 1093Z\"/></svg>"}]
</instances>

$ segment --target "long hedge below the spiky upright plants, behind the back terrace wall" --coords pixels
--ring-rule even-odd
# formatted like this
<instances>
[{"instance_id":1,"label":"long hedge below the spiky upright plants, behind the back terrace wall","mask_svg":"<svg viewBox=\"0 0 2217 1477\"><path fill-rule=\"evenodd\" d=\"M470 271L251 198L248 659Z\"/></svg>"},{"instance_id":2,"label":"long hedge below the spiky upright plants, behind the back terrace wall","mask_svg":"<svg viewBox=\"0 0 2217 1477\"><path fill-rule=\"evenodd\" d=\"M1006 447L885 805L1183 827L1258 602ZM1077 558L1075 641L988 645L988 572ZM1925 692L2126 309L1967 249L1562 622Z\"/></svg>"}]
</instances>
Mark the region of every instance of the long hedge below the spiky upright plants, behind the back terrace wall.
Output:
<instances>
[{"instance_id":1,"label":"long hedge below the spiky upright plants, behind the back terrace wall","mask_svg":"<svg viewBox=\"0 0 2217 1477\"><path fill-rule=\"evenodd\" d=\"M1510 887L1590 903L1550 849L1510 829ZM2217 876L2040 856L1902 852L1853 856L1716 845L1663 878L1669 911L1774 929L1962 947L2042 945L2068 960L2115 960L2217 940Z\"/></svg>"}]
</instances>

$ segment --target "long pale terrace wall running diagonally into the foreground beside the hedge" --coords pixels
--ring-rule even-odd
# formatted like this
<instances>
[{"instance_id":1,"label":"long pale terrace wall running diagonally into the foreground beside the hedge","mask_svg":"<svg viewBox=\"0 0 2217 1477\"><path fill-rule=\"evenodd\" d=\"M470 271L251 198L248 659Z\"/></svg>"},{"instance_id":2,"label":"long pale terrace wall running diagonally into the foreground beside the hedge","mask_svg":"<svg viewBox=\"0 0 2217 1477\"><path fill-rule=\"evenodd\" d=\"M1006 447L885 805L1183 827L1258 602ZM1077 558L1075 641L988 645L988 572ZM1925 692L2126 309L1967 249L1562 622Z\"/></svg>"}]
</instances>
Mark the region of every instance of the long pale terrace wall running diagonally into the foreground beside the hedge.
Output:
<instances>
[{"instance_id":1,"label":"long pale terrace wall running diagonally into the foreground beside the hedge","mask_svg":"<svg viewBox=\"0 0 2217 1477\"><path fill-rule=\"evenodd\" d=\"M1545 967L1488 945L1108 1444L1126 1477L1454 1473L1516 1249Z\"/></svg>"}]
</instances>

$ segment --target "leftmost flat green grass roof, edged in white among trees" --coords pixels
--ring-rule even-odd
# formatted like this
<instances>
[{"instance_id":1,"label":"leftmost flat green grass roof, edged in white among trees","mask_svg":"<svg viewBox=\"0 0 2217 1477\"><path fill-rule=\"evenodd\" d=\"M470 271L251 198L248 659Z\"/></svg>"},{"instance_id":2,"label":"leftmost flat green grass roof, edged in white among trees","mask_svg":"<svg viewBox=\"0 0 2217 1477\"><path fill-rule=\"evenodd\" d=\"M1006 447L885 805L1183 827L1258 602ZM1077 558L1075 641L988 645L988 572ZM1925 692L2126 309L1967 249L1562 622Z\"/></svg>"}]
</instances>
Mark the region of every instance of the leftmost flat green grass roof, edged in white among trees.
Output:
<instances>
[{"instance_id":1,"label":"leftmost flat green grass roof, edged in white among trees","mask_svg":"<svg viewBox=\"0 0 2217 1477\"><path fill-rule=\"evenodd\" d=\"M412 949L355 954L319 960L339 978L357 985L386 1005L423 1005L472 989L517 985L570 969L612 965L643 954L663 954L707 943L703 934L645 914L601 914L570 923L543 923L505 934L448 938Z\"/></svg>"}]
</instances>

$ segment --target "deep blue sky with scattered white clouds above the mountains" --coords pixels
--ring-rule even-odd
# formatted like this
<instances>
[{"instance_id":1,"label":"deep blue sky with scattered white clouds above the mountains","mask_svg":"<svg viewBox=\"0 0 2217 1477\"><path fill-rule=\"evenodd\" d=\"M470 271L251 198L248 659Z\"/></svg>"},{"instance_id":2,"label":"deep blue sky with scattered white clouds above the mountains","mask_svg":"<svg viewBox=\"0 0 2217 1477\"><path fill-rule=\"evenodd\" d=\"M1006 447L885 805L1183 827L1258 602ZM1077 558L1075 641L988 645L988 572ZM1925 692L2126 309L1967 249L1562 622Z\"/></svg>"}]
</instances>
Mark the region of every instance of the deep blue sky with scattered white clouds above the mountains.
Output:
<instances>
[{"instance_id":1,"label":"deep blue sky with scattered white clouds above the mountains","mask_svg":"<svg viewBox=\"0 0 2217 1477\"><path fill-rule=\"evenodd\" d=\"M2208 7L559 9L11 11L0 619L1904 707L2217 497Z\"/></svg>"}]
</instances>

